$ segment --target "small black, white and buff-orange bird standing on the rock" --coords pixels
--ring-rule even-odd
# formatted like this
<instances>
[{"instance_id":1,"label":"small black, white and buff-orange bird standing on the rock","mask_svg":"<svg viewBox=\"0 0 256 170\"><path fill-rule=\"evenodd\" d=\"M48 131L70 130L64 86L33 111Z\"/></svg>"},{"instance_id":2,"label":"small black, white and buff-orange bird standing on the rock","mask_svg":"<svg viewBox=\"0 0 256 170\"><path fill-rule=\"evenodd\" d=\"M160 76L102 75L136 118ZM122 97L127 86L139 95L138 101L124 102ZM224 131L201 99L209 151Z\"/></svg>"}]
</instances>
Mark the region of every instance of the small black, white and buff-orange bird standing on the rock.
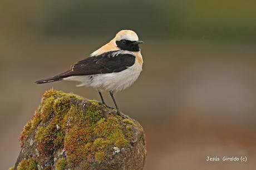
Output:
<instances>
[{"instance_id":1,"label":"small black, white and buff-orange bird standing on the rock","mask_svg":"<svg viewBox=\"0 0 256 170\"><path fill-rule=\"evenodd\" d=\"M143 64L139 47L141 43L144 42L139 41L134 31L121 30L109 43L92 52L87 58L73 64L67 71L35 83L62 80L80 82L77 87L97 89L102 103L106 106L101 92L107 91L115 104L117 114L123 116L117 106L114 93L130 87L140 76Z\"/></svg>"}]
</instances>

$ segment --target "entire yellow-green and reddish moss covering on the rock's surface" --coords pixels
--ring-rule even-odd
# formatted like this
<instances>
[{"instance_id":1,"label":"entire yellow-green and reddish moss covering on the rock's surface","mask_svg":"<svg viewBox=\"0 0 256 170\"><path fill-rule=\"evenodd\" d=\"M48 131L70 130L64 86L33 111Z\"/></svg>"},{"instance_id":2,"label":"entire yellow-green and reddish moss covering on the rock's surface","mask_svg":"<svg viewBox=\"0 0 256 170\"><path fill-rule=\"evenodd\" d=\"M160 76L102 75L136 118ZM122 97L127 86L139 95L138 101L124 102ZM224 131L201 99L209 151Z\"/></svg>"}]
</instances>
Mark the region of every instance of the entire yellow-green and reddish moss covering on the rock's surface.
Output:
<instances>
[{"instance_id":1,"label":"entire yellow-green and reddish moss covering on the rock's surface","mask_svg":"<svg viewBox=\"0 0 256 170\"><path fill-rule=\"evenodd\" d=\"M131 126L135 126L131 119L112 114L97 101L77 106L74 100L79 101L76 103L84 101L72 93L46 91L35 116L23 128L21 144L35 130L35 141L42 156L64 149L66 158L56 162L57 169L75 167L91 158L104 162L109 159L107 153L112 153L113 147L131 147Z\"/></svg>"}]
</instances>

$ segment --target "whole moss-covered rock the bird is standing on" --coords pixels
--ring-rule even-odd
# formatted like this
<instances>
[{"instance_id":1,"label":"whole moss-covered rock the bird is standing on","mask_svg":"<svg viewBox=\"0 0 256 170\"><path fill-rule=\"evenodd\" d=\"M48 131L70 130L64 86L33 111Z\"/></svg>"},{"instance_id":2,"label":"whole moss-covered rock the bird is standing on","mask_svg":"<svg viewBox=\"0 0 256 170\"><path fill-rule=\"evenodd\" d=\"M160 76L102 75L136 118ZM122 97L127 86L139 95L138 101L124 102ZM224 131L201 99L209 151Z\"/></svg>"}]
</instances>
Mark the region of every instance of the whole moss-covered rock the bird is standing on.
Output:
<instances>
[{"instance_id":1,"label":"whole moss-covered rock the bird is standing on","mask_svg":"<svg viewBox=\"0 0 256 170\"><path fill-rule=\"evenodd\" d=\"M50 89L23 128L14 169L143 169L145 133L130 117Z\"/></svg>"}]
</instances>

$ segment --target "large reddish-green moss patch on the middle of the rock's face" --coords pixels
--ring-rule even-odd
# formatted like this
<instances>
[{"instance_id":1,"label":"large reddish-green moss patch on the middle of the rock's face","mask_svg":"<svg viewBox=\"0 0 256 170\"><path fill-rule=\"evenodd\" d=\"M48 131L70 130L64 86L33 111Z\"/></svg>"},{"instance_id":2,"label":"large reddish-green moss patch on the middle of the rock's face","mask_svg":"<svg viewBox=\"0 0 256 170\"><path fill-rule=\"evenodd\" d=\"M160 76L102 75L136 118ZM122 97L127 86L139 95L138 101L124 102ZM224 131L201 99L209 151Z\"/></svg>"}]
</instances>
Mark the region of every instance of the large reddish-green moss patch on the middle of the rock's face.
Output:
<instances>
[{"instance_id":1,"label":"large reddish-green moss patch on the middle of the rock's face","mask_svg":"<svg viewBox=\"0 0 256 170\"><path fill-rule=\"evenodd\" d=\"M125 147L128 144L122 133L123 128L117 118L110 117L105 119L92 112L99 111L99 107L97 103L92 103L91 107L88 107L89 111L83 114L80 109L72 106L64 118L64 124L69 124L64 146L68 162L72 165L79 163L82 159L86 159L88 153L103 151L102 149L108 149L107 147L111 144L117 147ZM96 121L97 123L95 123ZM91 144L90 139L92 136L95 136L96 139Z\"/></svg>"}]
</instances>

